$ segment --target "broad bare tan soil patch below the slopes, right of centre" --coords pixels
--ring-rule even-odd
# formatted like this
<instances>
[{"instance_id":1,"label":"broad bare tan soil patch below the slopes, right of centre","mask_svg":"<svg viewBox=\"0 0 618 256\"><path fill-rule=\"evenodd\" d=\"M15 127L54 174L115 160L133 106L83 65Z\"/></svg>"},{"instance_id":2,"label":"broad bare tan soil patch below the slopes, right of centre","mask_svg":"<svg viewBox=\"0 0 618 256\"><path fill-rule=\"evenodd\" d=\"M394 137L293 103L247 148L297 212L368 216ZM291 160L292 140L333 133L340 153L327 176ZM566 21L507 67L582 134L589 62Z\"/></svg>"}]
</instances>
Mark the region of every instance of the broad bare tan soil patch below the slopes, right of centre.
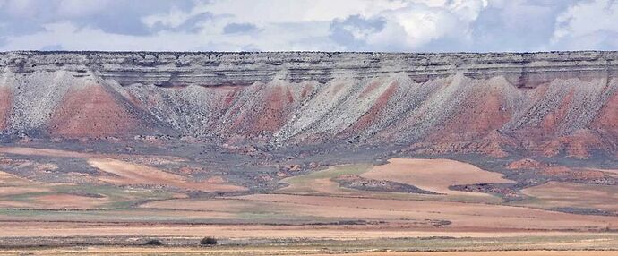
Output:
<instances>
[{"instance_id":1,"label":"broad bare tan soil patch below the slopes, right of centre","mask_svg":"<svg viewBox=\"0 0 618 256\"><path fill-rule=\"evenodd\" d=\"M449 186L472 183L512 183L501 174L450 159L392 158L389 164L374 166L362 176L376 180L408 183L432 192L448 195L490 196L485 193L451 191Z\"/></svg>"}]
</instances>

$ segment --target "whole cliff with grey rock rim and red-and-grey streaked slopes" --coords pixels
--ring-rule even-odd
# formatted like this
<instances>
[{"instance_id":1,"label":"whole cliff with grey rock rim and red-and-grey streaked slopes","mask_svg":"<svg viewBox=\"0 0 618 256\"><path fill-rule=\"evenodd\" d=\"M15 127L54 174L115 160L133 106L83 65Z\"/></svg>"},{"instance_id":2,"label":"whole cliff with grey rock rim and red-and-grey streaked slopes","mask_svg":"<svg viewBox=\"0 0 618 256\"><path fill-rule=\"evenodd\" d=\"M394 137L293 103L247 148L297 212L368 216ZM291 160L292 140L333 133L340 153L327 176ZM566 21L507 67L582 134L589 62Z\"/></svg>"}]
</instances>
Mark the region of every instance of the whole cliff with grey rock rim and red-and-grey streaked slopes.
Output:
<instances>
[{"instance_id":1,"label":"whole cliff with grey rock rim and red-and-grey streaked slopes","mask_svg":"<svg viewBox=\"0 0 618 256\"><path fill-rule=\"evenodd\" d=\"M0 54L0 130L511 150L618 147L618 53Z\"/></svg>"}]
</instances>

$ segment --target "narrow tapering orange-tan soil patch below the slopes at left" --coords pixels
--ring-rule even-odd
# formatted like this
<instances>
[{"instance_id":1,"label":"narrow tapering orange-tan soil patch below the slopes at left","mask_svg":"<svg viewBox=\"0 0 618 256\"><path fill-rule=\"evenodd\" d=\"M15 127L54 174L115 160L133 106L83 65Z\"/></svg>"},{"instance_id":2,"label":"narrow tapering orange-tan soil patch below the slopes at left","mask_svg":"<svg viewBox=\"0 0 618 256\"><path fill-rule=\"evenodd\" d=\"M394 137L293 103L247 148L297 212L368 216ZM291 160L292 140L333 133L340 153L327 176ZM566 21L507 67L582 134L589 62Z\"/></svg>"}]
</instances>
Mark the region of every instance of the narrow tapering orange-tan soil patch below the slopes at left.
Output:
<instances>
[{"instance_id":1,"label":"narrow tapering orange-tan soil patch below the slopes at left","mask_svg":"<svg viewBox=\"0 0 618 256\"><path fill-rule=\"evenodd\" d=\"M204 181L194 183L187 181L181 175L174 175L150 166L136 165L121 160L110 158L90 158L90 166L104 171L109 176L99 177L101 181L113 184L149 184L149 185L171 185L188 190L199 190L203 192L238 192L246 191L246 188L220 183L220 181Z\"/></svg>"}]
</instances>

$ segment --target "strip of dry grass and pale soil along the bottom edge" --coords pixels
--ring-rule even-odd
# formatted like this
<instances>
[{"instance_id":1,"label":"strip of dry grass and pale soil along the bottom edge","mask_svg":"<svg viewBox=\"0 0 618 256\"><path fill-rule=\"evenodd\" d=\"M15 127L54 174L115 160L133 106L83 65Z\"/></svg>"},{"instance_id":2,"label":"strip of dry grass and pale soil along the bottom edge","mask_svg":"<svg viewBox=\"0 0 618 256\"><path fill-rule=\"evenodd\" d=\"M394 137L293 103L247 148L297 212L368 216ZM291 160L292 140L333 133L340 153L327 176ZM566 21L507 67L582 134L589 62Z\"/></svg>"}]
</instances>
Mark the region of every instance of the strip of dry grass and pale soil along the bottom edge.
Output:
<instances>
[{"instance_id":1,"label":"strip of dry grass and pale soil along the bottom edge","mask_svg":"<svg viewBox=\"0 0 618 256\"><path fill-rule=\"evenodd\" d=\"M83 238L82 238L83 239ZM529 235L509 237L410 237L367 240L279 240L240 244L223 241L217 246L199 246L199 238L158 237L176 246L92 245L88 247L42 247L0 250L0 255L320 255L375 253L383 255L433 255L410 252L491 252L487 255L616 255L618 234ZM536 252L538 251L538 252ZM579 251L579 254L569 254ZM404 253L405 252L405 253ZM548 252L552 252L549 253ZM399 254L398 254L399 253ZM361 254L363 255L363 254ZM369 254L371 255L371 254ZM387 254L388 255L388 254ZM476 254L436 254L476 255Z\"/></svg>"}]
</instances>

